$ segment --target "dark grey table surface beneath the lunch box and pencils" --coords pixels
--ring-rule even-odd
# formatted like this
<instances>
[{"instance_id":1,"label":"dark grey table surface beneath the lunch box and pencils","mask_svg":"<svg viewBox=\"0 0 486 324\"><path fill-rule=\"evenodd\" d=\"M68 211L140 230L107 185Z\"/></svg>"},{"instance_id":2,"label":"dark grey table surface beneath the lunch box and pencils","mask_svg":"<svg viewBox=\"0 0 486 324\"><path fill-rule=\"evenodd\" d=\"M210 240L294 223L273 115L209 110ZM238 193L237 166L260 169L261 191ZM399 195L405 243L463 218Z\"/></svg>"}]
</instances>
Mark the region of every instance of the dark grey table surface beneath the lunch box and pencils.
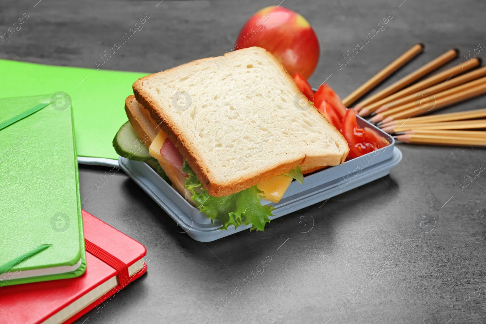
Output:
<instances>
[{"instance_id":1,"label":"dark grey table surface beneath the lunch box and pencils","mask_svg":"<svg viewBox=\"0 0 486 324\"><path fill-rule=\"evenodd\" d=\"M0 57L95 68L98 55L148 12L143 30L102 68L159 71L231 50L246 19L278 2L3 0L1 30L24 12L30 23L0 46ZM341 97L417 42L426 50L401 76L451 48L463 54L486 44L480 0L282 5L306 17L319 37L311 84L328 78ZM340 69L342 55L388 13L386 29ZM486 96L445 111L485 105ZM210 243L178 233L122 171L97 190L108 169L80 166L83 208L144 244L148 272L76 323L485 323L486 173L467 188L461 183L486 166L486 152L398 147L403 160L389 176L275 220L264 233ZM430 220L425 229L422 217ZM243 287L266 257L264 272ZM225 306L222 298L237 286L242 291Z\"/></svg>"}]
</instances>

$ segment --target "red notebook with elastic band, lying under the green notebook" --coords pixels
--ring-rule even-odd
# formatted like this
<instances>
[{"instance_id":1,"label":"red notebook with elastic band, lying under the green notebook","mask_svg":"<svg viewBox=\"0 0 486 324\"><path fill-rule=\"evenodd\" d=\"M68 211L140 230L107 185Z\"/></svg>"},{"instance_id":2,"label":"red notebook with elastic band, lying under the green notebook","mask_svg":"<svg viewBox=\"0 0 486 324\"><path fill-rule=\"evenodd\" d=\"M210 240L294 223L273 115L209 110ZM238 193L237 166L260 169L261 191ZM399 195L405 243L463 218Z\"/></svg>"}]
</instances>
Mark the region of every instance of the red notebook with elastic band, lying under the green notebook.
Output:
<instances>
[{"instance_id":1,"label":"red notebook with elastic band, lying under the green notebook","mask_svg":"<svg viewBox=\"0 0 486 324\"><path fill-rule=\"evenodd\" d=\"M72 323L147 271L142 244L85 210L83 223L86 273L1 287L2 324Z\"/></svg>"}]
</instances>

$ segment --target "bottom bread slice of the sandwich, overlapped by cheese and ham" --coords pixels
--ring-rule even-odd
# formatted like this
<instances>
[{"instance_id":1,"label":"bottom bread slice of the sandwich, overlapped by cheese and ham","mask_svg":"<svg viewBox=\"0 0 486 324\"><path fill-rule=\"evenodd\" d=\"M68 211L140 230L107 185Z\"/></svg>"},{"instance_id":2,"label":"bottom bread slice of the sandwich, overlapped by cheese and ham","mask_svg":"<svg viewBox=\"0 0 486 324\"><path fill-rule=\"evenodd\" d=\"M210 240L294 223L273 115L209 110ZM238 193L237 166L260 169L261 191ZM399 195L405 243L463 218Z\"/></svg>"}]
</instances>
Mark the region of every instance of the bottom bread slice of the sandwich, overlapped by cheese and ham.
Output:
<instances>
[{"instance_id":1,"label":"bottom bread slice of the sandwich, overlapped by cheese and ham","mask_svg":"<svg viewBox=\"0 0 486 324\"><path fill-rule=\"evenodd\" d=\"M157 136L160 128L156 122L150 117L147 109L143 108L139 102L135 99L135 96L128 96L125 99L125 112L130 124L133 126L140 138L145 139L147 147L152 144L152 141ZM157 159L158 163L164 169L165 174L172 182L172 187L182 197L184 197L191 205L196 203L191 199L191 191L184 188L186 178L181 176L178 170L175 170L174 166L165 159Z\"/></svg>"}]
</instances>

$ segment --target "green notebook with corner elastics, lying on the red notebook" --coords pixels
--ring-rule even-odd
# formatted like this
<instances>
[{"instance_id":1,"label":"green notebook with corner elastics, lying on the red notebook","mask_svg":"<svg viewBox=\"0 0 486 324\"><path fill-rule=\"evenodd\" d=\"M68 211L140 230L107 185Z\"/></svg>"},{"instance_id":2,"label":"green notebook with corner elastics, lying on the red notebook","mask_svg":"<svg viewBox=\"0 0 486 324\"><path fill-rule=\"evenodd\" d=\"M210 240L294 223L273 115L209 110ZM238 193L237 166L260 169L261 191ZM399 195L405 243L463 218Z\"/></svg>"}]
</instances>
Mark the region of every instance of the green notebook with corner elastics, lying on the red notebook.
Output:
<instances>
[{"instance_id":1,"label":"green notebook with corner elastics, lying on the red notebook","mask_svg":"<svg viewBox=\"0 0 486 324\"><path fill-rule=\"evenodd\" d=\"M38 110L39 104L47 106ZM38 111L32 113L34 107ZM23 118L5 127L18 115ZM0 197L0 268L39 246L49 245L15 261L13 268L0 274L0 287L72 278L85 272L78 164L68 96L0 99Z\"/></svg>"}]
</instances>

